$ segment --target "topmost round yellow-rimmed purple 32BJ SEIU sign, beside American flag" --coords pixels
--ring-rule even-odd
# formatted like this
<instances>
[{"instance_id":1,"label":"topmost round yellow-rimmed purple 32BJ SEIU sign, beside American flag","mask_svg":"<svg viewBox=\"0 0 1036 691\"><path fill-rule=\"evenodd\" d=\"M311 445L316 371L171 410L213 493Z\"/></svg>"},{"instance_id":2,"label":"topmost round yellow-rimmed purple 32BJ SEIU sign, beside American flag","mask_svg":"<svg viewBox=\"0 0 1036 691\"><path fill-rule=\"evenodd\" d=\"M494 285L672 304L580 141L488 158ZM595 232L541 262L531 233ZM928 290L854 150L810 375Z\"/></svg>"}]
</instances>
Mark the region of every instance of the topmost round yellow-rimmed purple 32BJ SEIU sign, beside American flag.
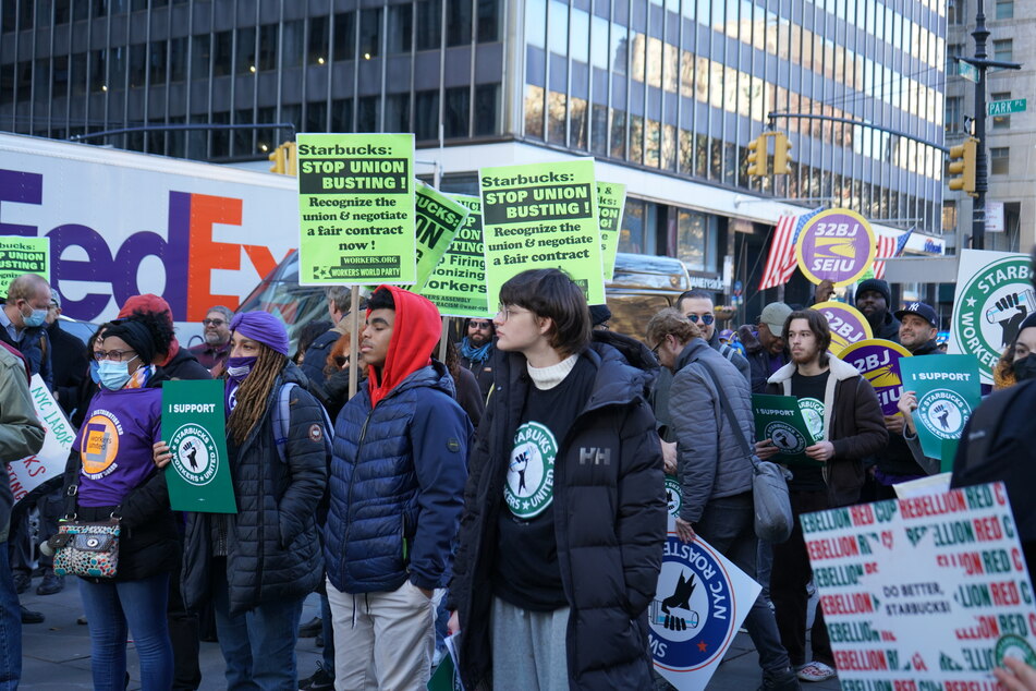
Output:
<instances>
[{"instance_id":1,"label":"topmost round yellow-rimmed purple 32BJ SEIU sign, beside American flag","mask_svg":"<svg viewBox=\"0 0 1036 691\"><path fill-rule=\"evenodd\" d=\"M876 253L870 223L849 209L829 209L809 219L799 234L795 258L814 283L846 286L867 272Z\"/></svg>"}]
</instances>

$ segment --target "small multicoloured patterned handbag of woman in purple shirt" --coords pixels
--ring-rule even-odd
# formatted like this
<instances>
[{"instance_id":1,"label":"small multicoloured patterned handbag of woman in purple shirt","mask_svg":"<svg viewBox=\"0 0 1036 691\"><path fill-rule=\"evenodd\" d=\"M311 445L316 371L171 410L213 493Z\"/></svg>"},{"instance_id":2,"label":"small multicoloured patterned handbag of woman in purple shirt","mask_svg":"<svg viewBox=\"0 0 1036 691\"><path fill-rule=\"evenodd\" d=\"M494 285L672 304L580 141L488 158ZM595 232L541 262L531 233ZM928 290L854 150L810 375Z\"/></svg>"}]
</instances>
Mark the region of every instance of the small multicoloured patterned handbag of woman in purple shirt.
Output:
<instances>
[{"instance_id":1,"label":"small multicoloured patterned handbag of woman in purple shirt","mask_svg":"<svg viewBox=\"0 0 1036 691\"><path fill-rule=\"evenodd\" d=\"M48 542L54 550L54 573L114 578L119 570L119 519L107 521L61 520L58 534Z\"/></svg>"}]
</instances>

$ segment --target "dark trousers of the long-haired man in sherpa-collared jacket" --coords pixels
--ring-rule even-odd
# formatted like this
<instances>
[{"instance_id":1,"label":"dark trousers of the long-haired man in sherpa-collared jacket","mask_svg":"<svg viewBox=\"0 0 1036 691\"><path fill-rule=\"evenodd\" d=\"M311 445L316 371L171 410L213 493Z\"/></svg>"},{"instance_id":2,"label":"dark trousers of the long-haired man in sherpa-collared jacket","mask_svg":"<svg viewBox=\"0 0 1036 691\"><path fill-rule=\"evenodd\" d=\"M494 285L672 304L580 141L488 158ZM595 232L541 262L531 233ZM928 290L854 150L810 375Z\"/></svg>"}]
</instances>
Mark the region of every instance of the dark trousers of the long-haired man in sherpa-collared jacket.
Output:
<instances>
[{"instance_id":1,"label":"dark trousers of the long-haired man in sherpa-collared jacket","mask_svg":"<svg viewBox=\"0 0 1036 691\"><path fill-rule=\"evenodd\" d=\"M791 657L792 665L806 663L806 584L813 578L806 542L802 535L799 517L810 511L830 508L827 490L790 492L791 511L795 528L787 542L773 545L773 570L770 574L770 597L777 609L777 628L781 632L781 643ZM824 611L817 604L816 618L813 621L813 659L834 666L831 641L824 625Z\"/></svg>"}]
</instances>

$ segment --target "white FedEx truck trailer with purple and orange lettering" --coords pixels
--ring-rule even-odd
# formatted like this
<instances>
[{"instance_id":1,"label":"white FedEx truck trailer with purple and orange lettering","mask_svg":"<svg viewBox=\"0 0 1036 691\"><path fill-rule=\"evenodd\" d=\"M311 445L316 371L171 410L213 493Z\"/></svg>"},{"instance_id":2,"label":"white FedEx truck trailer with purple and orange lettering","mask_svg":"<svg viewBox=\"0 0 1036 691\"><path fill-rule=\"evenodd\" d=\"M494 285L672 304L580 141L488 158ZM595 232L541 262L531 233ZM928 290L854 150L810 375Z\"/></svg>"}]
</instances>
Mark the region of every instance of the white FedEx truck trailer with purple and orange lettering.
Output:
<instances>
[{"instance_id":1,"label":"white FedEx truck trailer with purple and orange lettering","mask_svg":"<svg viewBox=\"0 0 1036 691\"><path fill-rule=\"evenodd\" d=\"M50 240L64 313L162 295L183 340L298 246L295 178L0 134L0 235Z\"/></svg>"}]
</instances>

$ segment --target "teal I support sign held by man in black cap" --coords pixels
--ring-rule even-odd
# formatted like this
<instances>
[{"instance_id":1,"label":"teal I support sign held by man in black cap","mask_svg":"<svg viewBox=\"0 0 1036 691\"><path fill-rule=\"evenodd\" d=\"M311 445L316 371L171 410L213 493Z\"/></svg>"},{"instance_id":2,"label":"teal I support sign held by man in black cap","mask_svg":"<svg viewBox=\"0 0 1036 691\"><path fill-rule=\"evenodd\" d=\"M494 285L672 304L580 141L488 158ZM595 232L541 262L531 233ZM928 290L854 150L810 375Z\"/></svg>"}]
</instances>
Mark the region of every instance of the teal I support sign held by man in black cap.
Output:
<instances>
[{"instance_id":1,"label":"teal I support sign held by man in black cap","mask_svg":"<svg viewBox=\"0 0 1036 691\"><path fill-rule=\"evenodd\" d=\"M982 400L978 361L973 355L921 355L900 360L903 390L915 391L914 426L925 456L941 458L943 468ZM947 444L949 443L949 444ZM946 453L946 454L944 454Z\"/></svg>"}]
</instances>

